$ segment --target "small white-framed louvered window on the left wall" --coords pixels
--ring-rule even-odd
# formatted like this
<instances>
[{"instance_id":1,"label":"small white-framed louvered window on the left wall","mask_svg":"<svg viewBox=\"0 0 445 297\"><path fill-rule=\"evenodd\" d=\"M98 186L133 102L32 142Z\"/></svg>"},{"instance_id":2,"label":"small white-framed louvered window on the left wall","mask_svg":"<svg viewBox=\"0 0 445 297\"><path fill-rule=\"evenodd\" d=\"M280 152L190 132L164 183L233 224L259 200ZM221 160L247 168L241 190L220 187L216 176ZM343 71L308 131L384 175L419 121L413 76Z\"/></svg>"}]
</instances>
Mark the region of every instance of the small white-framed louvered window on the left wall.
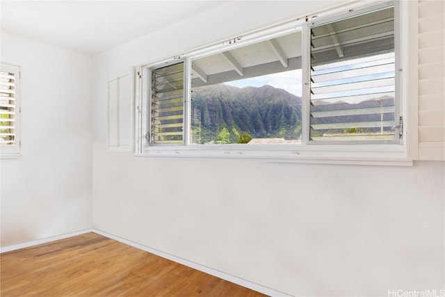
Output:
<instances>
[{"instance_id":1,"label":"small white-framed louvered window on the left wall","mask_svg":"<svg viewBox=\"0 0 445 297\"><path fill-rule=\"evenodd\" d=\"M2 156L20 152L20 68L0 64L0 149Z\"/></svg>"}]
</instances>

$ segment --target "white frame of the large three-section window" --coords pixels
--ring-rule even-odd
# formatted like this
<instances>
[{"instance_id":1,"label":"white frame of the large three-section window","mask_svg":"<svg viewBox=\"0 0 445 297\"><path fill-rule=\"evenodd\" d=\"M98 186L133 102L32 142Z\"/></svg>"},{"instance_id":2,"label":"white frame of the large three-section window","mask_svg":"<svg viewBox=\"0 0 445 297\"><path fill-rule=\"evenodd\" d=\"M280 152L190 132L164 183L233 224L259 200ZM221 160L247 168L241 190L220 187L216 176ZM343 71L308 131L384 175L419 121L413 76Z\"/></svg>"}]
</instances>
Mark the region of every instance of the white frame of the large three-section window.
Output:
<instances>
[{"instance_id":1,"label":"white frame of the large three-section window","mask_svg":"<svg viewBox=\"0 0 445 297\"><path fill-rule=\"evenodd\" d=\"M210 56L211 54L216 54L222 51L227 51L229 49L235 49L237 47L244 47L246 45L251 45L264 40L269 40L281 35L287 35L296 31L303 30L303 26L306 25L307 21L312 19L321 22L328 17L335 17L341 19L346 15L356 14L357 10L370 11L375 8L376 2L368 3L364 6L363 3L355 3L350 6L343 6L338 10L332 10L331 12L323 14L309 15L305 19L294 19L283 24L269 27L267 29L262 29L241 37L233 38L231 40L226 40L224 42L219 42L216 45L211 45L209 47L204 47L201 49L196 49L195 51L176 56L173 59L166 59L165 61L160 61L158 63L144 65L140 67L140 82L136 83L136 88L139 88L136 95L136 115L139 115L136 120L136 131L140 131L137 135L136 140L136 156L156 156L156 157L183 157L183 158L198 158L198 159L253 159L253 160L263 160L263 161L273 161L273 162L289 162L289 163L336 163L336 164L364 164L364 165L395 165L395 166L412 166L412 159L409 158L407 154L407 90L408 90L408 75L407 71L412 65L409 65L407 58L408 48L410 44L409 38L413 38L410 35L407 28L408 22L408 4L400 1L400 9L398 10L399 15L396 15L396 30L398 30L398 35L401 36L401 40L405 40L403 44L396 46L399 52L396 55L401 61L401 83L398 84L398 93L401 98L401 112L400 115L403 116L404 127L403 127L403 143L401 144L325 144L325 143L307 143L304 141L301 145L239 145L239 144L225 144L225 145L189 145L188 138L185 137L184 145L147 145L145 136L147 132L150 131L149 128L149 106L150 106L150 75L149 72L152 68L162 67L169 65L170 63L176 63L179 59L184 59L184 67L186 77L184 77L184 91L185 102L184 102L184 116L185 119L190 120L190 109L187 106L190 104L190 73L191 73L191 60L200 58L203 56ZM388 1L380 1L378 5L393 5ZM363 10L363 11L362 11ZM403 17L402 17L403 16ZM303 30L304 31L304 30ZM233 42L236 40L236 42ZM303 65L305 64L305 59L307 59L307 51L309 48L305 46L305 40L303 36L303 50L302 50L302 60ZM397 41L396 41L397 42ZM303 88L305 83L304 72L303 71ZM416 82L415 82L416 83ZM305 90L305 89L303 89ZM303 91L302 96L302 131L305 133L303 137L307 136L308 133L308 123L309 123L309 113L308 106L309 99ZM186 120L184 120L184 127L187 129ZM415 134L416 129L412 129L410 133ZM185 131L187 132L187 131ZM185 134L187 135L187 134ZM305 138L303 138L305 139ZM306 138L307 139L307 138Z\"/></svg>"}]
</instances>

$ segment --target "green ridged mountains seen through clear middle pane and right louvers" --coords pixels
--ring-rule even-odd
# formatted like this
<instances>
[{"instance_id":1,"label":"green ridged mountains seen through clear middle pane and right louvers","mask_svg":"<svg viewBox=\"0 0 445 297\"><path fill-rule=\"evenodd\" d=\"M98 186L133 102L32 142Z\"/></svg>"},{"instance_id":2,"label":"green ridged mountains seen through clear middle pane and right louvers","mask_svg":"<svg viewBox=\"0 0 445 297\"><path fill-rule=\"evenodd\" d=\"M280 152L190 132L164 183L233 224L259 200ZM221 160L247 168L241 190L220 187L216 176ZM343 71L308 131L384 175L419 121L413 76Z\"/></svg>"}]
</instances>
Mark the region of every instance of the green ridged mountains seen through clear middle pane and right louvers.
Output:
<instances>
[{"instance_id":1,"label":"green ridged mountains seen through clear middle pane and right louvers","mask_svg":"<svg viewBox=\"0 0 445 297\"><path fill-rule=\"evenodd\" d=\"M375 112L375 107L394 106L394 98L383 96L358 103L314 102L316 111L362 111L360 114L311 118L311 124L379 122L394 120L394 109L385 113ZM237 88L223 83L193 88L192 91L192 143L236 143L240 134L252 138L298 139L301 134L301 97L273 86ZM369 110L373 110L370 112ZM367 112L369 111L369 112ZM395 125L395 124L394 124ZM354 131L357 127L349 127ZM385 126L384 131L394 127ZM311 135L339 134L348 129L312 131ZM361 132L380 131L374 128L359 129ZM349 132L351 133L351 132Z\"/></svg>"}]
</instances>

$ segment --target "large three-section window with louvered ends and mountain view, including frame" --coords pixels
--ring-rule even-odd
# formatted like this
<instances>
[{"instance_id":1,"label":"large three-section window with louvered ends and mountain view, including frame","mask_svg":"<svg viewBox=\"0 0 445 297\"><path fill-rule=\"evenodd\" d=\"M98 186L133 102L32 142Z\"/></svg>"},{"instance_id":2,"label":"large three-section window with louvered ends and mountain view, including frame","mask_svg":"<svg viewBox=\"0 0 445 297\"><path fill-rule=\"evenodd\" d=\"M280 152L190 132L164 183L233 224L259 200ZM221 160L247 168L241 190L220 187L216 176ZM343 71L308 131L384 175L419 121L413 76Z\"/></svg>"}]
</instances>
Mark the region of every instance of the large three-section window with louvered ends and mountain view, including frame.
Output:
<instances>
[{"instance_id":1,"label":"large three-section window with louvered ends and mountain view, including frame","mask_svg":"<svg viewBox=\"0 0 445 297\"><path fill-rule=\"evenodd\" d=\"M398 5L312 15L140 68L138 153L406 160Z\"/></svg>"}]
</instances>

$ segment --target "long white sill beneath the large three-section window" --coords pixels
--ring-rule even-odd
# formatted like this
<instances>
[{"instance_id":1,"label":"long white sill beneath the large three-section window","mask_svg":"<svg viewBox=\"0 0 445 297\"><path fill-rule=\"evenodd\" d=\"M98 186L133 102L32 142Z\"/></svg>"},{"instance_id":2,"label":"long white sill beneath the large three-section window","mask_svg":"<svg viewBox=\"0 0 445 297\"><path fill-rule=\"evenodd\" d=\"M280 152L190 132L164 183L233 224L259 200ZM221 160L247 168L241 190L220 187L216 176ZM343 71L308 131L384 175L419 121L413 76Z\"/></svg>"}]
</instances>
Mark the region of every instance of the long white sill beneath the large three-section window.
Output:
<instances>
[{"instance_id":1,"label":"long white sill beneath the large three-section window","mask_svg":"<svg viewBox=\"0 0 445 297\"><path fill-rule=\"evenodd\" d=\"M143 154L136 156L412 166L405 151L403 145L174 145L146 147Z\"/></svg>"}]
</instances>

